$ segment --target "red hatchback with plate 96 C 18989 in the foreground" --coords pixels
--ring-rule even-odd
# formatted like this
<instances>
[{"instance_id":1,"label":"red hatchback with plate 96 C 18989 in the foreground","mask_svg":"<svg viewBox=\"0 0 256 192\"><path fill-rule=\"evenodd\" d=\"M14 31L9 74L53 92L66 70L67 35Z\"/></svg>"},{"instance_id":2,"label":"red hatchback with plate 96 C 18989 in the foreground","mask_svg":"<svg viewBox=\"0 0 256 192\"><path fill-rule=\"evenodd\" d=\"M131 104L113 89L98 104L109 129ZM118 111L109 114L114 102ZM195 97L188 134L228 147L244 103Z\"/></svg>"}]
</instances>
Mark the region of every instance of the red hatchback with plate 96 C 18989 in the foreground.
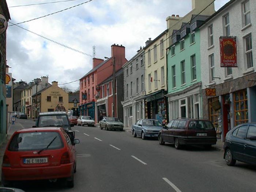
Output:
<instances>
[{"instance_id":1,"label":"red hatchback with plate 96 C 18989 in the foreground","mask_svg":"<svg viewBox=\"0 0 256 192\"><path fill-rule=\"evenodd\" d=\"M2 183L66 178L67 186L74 187L77 143L79 139L71 141L59 127L16 131L5 149Z\"/></svg>"}]
</instances>

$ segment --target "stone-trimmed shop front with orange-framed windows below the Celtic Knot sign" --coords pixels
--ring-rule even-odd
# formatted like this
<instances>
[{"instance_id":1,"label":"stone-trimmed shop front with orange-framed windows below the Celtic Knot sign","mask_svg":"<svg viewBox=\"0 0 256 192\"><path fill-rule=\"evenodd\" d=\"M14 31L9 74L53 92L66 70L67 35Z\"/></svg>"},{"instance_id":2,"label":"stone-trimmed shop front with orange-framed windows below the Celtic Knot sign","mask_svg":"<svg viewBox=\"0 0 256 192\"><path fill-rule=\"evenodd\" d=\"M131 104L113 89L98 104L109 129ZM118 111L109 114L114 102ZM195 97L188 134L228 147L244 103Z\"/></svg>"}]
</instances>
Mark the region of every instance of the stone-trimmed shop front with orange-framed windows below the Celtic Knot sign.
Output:
<instances>
[{"instance_id":1,"label":"stone-trimmed shop front with orange-framed windows below the Celtic Knot sign","mask_svg":"<svg viewBox=\"0 0 256 192\"><path fill-rule=\"evenodd\" d=\"M256 73L202 90L203 117L214 124L224 141L227 132L242 123L256 121ZM209 95L209 89L214 90Z\"/></svg>"}]
</instances>

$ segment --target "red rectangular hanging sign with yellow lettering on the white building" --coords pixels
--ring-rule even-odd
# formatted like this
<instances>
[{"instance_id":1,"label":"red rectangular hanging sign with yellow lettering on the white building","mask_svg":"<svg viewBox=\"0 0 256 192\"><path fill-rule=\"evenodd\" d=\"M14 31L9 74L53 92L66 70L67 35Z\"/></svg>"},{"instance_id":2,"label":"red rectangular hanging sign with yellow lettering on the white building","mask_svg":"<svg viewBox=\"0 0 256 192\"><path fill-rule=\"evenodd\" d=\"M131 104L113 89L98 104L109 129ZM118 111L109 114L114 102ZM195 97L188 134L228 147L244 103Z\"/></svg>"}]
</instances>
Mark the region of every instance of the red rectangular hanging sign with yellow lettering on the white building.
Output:
<instances>
[{"instance_id":1,"label":"red rectangular hanging sign with yellow lettering on the white building","mask_svg":"<svg viewBox=\"0 0 256 192\"><path fill-rule=\"evenodd\" d=\"M237 67L236 37L220 37L221 67Z\"/></svg>"}]
</instances>

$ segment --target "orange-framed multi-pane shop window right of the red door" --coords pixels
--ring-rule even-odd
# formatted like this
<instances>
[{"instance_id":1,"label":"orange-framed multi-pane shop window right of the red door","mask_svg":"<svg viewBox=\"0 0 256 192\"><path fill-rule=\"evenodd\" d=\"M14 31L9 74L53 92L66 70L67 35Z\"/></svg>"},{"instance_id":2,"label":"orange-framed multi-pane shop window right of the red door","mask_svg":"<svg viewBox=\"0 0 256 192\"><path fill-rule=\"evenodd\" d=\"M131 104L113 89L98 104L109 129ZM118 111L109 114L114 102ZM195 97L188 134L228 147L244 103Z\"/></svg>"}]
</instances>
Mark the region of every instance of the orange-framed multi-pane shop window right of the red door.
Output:
<instances>
[{"instance_id":1,"label":"orange-framed multi-pane shop window right of the red door","mask_svg":"<svg viewBox=\"0 0 256 192\"><path fill-rule=\"evenodd\" d=\"M246 89L234 93L235 126L248 122Z\"/></svg>"}]
</instances>

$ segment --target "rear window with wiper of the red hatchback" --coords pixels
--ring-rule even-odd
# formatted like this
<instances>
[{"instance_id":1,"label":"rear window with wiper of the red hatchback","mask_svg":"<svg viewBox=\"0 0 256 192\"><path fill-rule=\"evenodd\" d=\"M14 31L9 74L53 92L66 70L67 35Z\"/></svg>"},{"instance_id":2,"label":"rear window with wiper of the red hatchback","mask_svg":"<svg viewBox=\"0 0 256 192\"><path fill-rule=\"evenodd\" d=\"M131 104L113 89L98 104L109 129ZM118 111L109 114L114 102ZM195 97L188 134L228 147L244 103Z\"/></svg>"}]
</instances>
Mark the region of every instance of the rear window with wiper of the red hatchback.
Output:
<instances>
[{"instance_id":1,"label":"rear window with wiper of the red hatchback","mask_svg":"<svg viewBox=\"0 0 256 192\"><path fill-rule=\"evenodd\" d=\"M56 137L56 138L55 138ZM54 139L55 138L55 139ZM12 138L8 150L10 151L28 151L28 150L41 150L49 145L50 149L60 149L64 147L61 136L58 132L44 131L44 132L29 132L18 133Z\"/></svg>"}]
</instances>

